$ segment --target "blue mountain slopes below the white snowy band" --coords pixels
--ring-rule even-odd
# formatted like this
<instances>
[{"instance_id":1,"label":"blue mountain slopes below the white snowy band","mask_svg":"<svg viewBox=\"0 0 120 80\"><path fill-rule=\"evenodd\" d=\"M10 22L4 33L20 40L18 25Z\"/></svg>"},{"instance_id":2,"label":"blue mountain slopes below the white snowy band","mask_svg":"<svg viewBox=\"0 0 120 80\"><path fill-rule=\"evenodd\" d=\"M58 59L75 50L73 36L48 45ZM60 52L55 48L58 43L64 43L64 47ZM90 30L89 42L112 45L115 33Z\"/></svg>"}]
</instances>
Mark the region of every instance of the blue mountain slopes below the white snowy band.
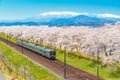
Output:
<instances>
[{"instance_id":1,"label":"blue mountain slopes below the white snowy band","mask_svg":"<svg viewBox=\"0 0 120 80\"><path fill-rule=\"evenodd\" d=\"M28 26L91 26L99 27L105 23L114 24L116 21L120 21L118 18L99 18L95 16L78 15L75 17L40 17L40 18L28 18L25 20L16 21L1 21L0 26L16 26L16 25L28 25Z\"/></svg>"}]
</instances>

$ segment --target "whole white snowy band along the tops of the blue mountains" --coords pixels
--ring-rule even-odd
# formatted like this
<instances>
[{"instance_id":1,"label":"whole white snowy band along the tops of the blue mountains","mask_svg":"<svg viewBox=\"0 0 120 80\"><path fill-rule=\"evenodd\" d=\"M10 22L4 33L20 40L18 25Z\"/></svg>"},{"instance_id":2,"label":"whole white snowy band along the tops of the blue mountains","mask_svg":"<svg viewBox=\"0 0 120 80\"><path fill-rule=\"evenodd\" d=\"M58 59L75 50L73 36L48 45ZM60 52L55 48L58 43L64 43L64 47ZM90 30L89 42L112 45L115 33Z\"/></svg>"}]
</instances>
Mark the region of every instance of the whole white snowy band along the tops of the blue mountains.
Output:
<instances>
[{"instance_id":1,"label":"whole white snowy band along the tops of the blue mountains","mask_svg":"<svg viewBox=\"0 0 120 80\"><path fill-rule=\"evenodd\" d=\"M48 17L74 17L78 15L87 15L87 16L95 16L100 18L120 18L120 15L114 15L110 13L105 14L89 14L87 12L79 13L79 12L71 12L71 11L64 11L64 12L44 12L41 13L40 16Z\"/></svg>"}]
</instances>

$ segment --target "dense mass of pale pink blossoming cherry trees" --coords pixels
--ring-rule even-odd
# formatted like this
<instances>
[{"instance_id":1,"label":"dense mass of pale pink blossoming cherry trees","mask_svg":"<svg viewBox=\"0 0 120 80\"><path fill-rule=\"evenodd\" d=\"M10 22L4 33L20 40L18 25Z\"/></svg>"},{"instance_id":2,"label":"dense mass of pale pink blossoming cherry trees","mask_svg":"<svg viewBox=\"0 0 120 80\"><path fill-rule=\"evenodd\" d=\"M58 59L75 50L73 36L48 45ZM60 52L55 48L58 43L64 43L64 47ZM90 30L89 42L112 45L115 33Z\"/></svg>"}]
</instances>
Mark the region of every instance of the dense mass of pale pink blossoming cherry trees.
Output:
<instances>
[{"instance_id":1,"label":"dense mass of pale pink blossoming cherry trees","mask_svg":"<svg viewBox=\"0 0 120 80\"><path fill-rule=\"evenodd\" d=\"M34 42L70 51L97 56L99 51L103 62L120 62L120 22L103 27L48 27L48 26L11 26L0 27L0 32Z\"/></svg>"}]
</instances>

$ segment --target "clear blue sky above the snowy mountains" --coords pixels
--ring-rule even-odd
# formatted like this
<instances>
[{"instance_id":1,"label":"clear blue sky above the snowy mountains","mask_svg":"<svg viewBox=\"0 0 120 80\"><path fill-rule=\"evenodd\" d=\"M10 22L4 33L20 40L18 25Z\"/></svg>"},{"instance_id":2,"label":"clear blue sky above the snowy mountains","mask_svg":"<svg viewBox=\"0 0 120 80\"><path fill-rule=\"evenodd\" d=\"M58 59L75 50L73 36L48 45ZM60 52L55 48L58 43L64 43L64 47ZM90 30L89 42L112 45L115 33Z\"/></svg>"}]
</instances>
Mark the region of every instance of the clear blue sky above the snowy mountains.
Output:
<instances>
[{"instance_id":1,"label":"clear blue sky above the snowy mountains","mask_svg":"<svg viewBox=\"0 0 120 80\"><path fill-rule=\"evenodd\" d=\"M24 19L51 11L120 15L120 0L0 0L0 20Z\"/></svg>"}]
</instances>

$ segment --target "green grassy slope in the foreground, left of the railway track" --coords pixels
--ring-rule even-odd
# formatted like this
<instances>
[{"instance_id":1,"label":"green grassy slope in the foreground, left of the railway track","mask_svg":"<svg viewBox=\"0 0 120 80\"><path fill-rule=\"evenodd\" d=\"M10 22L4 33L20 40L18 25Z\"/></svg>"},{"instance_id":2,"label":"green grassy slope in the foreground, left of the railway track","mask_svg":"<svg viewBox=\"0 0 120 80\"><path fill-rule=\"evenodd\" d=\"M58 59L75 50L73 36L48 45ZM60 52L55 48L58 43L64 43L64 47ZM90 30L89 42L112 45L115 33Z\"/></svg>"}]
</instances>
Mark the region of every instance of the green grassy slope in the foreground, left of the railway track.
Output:
<instances>
[{"instance_id":1,"label":"green grassy slope in the foreground, left of the railway track","mask_svg":"<svg viewBox=\"0 0 120 80\"><path fill-rule=\"evenodd\" d=\"M20 76L23 76L25 80L28 80L27 77L31 77L32 80L60 80L60 78L37 64L34 64L6 44L0 42L0 48L10 69L14 70Z\"/></svg>"}]
</instances>

